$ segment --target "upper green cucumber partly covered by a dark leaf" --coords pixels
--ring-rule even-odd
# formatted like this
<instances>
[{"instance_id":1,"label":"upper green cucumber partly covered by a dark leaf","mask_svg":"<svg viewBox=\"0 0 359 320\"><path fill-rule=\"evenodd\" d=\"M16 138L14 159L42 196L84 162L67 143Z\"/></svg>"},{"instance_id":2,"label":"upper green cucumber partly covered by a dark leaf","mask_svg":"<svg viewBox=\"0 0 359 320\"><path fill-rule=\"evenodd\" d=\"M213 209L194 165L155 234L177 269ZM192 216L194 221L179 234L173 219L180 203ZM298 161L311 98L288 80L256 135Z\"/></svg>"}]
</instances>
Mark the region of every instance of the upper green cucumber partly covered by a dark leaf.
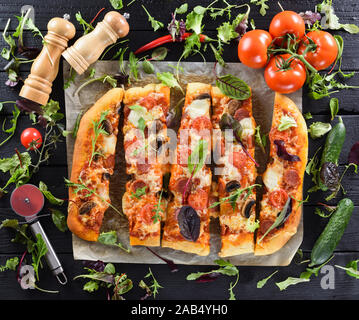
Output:
<instances>
[{"instance_id":1,"label":"upper green cucumber partly covered by a dark leaf","mask_svg":"<svg viewBox=\"0 0 359 320\"><path fill-rule=\"evenodd\" d=\"M339 156L343 148L345 136L345 126L342 118L339 117L339 122L328 133L327 139L325 140L319 172L321 171L323 164L326 162L331 162L338 166ZM329 189L320 178L320 174L318 176L318 186L322 191L327 191Z\"/></svg>"}]
</instances>

